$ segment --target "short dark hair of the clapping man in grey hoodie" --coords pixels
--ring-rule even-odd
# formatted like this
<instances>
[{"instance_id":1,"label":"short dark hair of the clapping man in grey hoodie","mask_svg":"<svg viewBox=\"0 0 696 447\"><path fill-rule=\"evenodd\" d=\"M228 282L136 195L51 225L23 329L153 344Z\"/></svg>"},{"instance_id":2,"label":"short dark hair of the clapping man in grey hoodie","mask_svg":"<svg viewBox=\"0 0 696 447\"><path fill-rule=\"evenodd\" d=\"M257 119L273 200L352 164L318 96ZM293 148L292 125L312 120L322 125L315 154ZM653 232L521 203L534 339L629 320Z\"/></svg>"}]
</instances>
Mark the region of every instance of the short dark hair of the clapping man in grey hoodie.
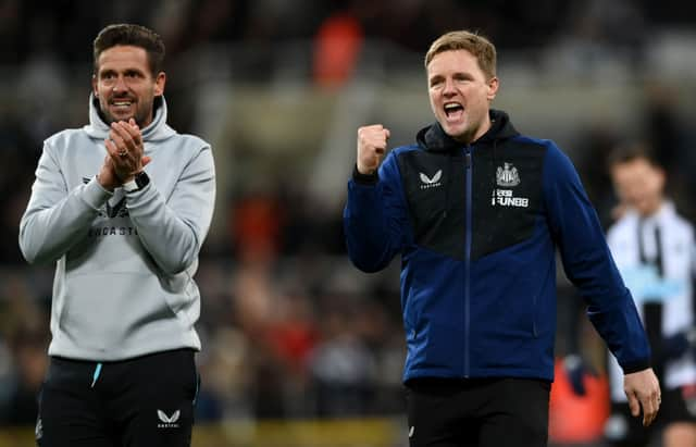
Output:
<instances>
[{"instance_id":1,"label":"short dark hair of the clapping man in grey hoodie","mask_svg":"<svg viewBox=\"0 0 696 447\"><path fill-rule=\"evenodd\" d=\"M150 71L156 76L164 69L164 41L159 34L145 26L121 23L109 25L97 35L94 42L95 72L99 71L102 51L119 45L140 47L148 53Z\"/></svg>"}]
</instances>

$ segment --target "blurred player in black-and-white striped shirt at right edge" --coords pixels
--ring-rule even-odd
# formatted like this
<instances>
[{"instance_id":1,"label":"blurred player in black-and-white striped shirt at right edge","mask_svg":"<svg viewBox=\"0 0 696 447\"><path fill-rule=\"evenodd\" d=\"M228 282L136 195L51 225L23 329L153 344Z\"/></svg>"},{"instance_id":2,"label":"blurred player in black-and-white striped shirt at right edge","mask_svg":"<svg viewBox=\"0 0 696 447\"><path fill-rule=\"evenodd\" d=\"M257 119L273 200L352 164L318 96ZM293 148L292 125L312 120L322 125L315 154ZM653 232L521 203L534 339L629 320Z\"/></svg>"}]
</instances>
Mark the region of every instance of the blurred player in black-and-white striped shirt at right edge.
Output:
<instances>
[{"instance_id":1,"label":"blurred player in black-and-white striped shirt at right edge","mask_svg":"<svg viewBox=\"0 0 696 447\"><path fill-rule=\"evenodd\" d=\"M609 172L620 204L607 240L633 293L663 388L658 429L666 447L696 446L696 326L694 227L666 196L667 174L643 142L617 147ZM607 440L647 446L655 436L625 411L621 369L609 359L612 415Z\"/></svg>"}]
</instances>

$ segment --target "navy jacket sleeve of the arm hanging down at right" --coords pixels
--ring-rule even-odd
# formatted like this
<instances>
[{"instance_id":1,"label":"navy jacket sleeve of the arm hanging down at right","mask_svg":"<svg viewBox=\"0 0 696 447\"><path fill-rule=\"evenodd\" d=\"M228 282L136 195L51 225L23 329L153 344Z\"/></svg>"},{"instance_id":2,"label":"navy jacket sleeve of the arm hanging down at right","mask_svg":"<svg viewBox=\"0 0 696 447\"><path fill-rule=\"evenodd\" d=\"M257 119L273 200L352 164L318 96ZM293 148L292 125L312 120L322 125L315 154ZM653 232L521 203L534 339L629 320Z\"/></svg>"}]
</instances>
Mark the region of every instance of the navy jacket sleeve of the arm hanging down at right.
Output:
<instances>
[{"instance_id":1,"label":"navy jacket sleeve of the arm hanging down at right","mask_svg":"<svg viewBox=\"0 0 696 447\"><path fill-rule=\"evenodd\" d=\"M624 373L650 365L650 347L631 293L611 257L601 225L575 167L549 144L544 165L548 224L568 278L587 302L587 315Z\"/></svg>"}]
</instances>

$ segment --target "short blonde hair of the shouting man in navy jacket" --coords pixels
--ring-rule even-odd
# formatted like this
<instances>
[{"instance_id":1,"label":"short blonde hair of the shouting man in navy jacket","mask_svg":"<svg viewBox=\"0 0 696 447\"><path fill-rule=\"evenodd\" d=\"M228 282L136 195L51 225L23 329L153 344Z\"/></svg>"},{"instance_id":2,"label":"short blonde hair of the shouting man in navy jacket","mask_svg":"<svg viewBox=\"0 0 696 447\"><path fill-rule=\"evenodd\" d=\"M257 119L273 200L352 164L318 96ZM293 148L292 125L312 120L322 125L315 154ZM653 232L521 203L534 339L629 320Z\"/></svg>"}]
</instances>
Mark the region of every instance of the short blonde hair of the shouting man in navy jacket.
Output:
<instances>
[{"instance_id":1,"label":"short blonde hair of the shouting man in navy jacket","mask_svg":"<svg viewBox=\"0 0 696 447\"><path fill-rule=\"evenodd\" d=\"M467 30L449 32L438 37L425 53L425 69L433 58L445 51L467 50L472 53L483 73L488 77L496 75L496 47L487 38Z\"/></svg>"}]
</instances>

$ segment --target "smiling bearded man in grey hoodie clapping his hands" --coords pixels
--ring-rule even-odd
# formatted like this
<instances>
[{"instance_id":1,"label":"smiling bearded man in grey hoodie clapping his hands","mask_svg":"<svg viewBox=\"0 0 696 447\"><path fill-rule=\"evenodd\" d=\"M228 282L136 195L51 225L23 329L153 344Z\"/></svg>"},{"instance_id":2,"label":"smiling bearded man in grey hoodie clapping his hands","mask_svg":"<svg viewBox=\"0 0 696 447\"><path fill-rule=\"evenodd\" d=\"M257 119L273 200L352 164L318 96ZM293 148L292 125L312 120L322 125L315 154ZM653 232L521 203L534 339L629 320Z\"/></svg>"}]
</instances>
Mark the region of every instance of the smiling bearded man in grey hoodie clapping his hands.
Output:
<instances>
[{"instance_id":1,"label":"smiling bearded man in grey hoodie clapping his hands","mask_svg":"<svg viewBox=\"0 0 696 447\"><path fill-rule=\"evenodd\" d=\"M160 36L107 26L94 59L89 124L45 141L20 224L26 260L57 263L37 443L189 446L213 157L166 124Z\"/></svg>"}]
</instances>

